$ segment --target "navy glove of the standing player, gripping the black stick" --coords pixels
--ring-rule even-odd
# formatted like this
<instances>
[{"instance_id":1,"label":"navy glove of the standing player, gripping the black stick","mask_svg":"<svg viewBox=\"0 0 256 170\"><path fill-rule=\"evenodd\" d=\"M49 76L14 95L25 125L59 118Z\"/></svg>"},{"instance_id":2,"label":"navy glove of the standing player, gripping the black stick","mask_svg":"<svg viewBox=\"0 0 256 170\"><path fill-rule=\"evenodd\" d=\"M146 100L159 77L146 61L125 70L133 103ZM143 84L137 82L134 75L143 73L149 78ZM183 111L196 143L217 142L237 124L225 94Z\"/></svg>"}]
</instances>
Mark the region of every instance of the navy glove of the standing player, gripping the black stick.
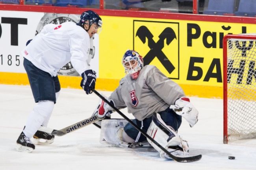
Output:
<instances>
[{"instance_id":1,"label":"navy glove of the standing player, gripping the black stick","mask_svg":"<svg viewBox=\"0 0 256 170\"><path fill-rule=\"evenodd\" d=\"M82 81L80 86L83 88L83 90L86 92L86 94L91 94L93 91L92 89L95 89L95 82L96 82L96 72L92 69L85 70L82 73Z\"/></svg>"}]
</instances>

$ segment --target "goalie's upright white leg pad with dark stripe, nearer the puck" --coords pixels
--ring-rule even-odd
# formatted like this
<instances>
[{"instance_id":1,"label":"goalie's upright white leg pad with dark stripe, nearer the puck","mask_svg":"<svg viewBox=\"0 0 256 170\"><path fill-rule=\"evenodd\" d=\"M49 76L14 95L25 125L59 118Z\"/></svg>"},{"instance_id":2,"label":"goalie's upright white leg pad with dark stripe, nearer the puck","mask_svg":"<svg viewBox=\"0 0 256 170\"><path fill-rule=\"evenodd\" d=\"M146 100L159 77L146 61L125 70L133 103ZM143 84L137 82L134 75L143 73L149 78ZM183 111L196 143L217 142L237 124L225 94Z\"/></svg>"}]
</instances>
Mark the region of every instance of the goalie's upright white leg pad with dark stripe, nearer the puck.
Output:
<instances>
[{"instance_id":1,"label":"goalie's upright white leg pad with dark stripe, nearer the puck","mask_svg":"<svg viewBox=\"0 0 256 170\"><path fill-rule=\"evenodd\" d=\"M187 142L182 140L170 126L167 126L158 113L154 113L152 116L152 122L147 130L147 134L169 152L175 150L188 152L189 150ZM163 151L148 138L147 140L163 157Z\"/></svg>"}]
</instances>

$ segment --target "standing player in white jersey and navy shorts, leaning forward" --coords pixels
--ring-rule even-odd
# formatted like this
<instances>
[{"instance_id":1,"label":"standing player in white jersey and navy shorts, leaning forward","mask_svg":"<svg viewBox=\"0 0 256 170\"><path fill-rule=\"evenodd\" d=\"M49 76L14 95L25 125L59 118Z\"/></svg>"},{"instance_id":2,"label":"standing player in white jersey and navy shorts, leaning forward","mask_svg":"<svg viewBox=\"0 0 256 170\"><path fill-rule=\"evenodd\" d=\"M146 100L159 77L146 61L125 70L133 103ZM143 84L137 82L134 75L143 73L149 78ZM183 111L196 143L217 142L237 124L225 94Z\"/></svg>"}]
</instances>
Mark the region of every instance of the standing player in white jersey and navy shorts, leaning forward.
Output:
<instances>
[{"instance_id":1,"label":"standing player in white jersey and navy shorts, leaning forward","mask_svg":"<svg viewBox=\"0 0 256 170\"><path fill-rule=\"evenodd\" d=\"M47 24L42 31L27 42L22 51L33 97L37 103L30 113L26 125L17 140L18 151L31 152L35 144L49 144L54 135L37 131L47 126L54 104L59 95L60 84L57 71L68 62L82 76L80 86L87 94L95 88L96 72L89 68L93 48L92 38L102 26L102 20L94 11L85 11L80 22L65 22L60 25Z\"/></svg>"}]
</instances>

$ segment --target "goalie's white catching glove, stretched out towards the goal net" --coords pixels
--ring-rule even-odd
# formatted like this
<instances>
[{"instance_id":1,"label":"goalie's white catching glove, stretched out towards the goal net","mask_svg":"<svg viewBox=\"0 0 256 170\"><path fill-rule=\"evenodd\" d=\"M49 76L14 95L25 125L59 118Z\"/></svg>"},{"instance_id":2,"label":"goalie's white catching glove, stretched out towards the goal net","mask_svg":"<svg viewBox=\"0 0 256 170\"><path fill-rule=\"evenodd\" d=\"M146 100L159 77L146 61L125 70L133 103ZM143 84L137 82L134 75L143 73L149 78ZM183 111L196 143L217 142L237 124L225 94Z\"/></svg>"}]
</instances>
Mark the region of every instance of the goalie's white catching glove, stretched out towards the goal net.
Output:
<instances>
[{"instance_id":1,"label":"goalie's white catching glove, stretched out towards the goal net","mask_svg":"<svg viewBox=\"0 0 256 170\"><path fill-rule=\"evenodd\" d=\"M170 106L170 109L184 117L189 122L191 128L198 121L198 111L187 97L180 97L180 99L175 101L175 105Z\"/></svg>"}]
</instances>

